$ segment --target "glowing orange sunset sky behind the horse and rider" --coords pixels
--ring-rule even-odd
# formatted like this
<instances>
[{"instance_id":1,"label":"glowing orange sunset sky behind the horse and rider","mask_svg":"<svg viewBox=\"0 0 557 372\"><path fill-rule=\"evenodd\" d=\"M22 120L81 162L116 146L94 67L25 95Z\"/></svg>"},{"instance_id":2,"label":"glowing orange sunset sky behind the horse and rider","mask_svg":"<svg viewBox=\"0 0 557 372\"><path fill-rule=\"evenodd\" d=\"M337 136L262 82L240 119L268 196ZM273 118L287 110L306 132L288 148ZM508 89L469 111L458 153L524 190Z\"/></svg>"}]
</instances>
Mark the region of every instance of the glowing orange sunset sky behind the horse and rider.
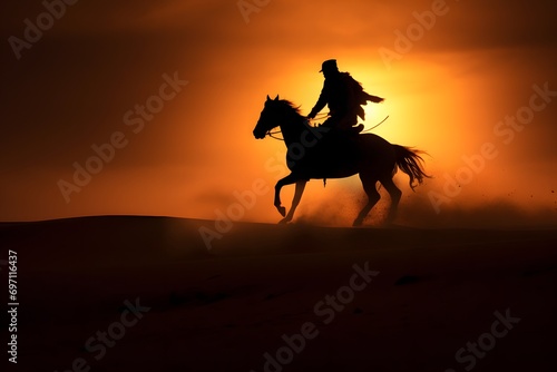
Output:
<instances>
[{"instance_id":1,"label":"glowing orange sunset sky behind the horse and rider","mask_svg":"<svg viewBox=\"0 0 557 372\"><path fill-rule=\"evenodd\" d=\"M367 107L368 127L389 115L378 135L430 154L427 169L434 178L416 194L398 176L403 203L434 213L431 192L442 194L446 175L455 177L466 165L462 157L492 143L497 157L442 203L441 213L492 200L556 212L557 97L509 144L494 133L499 120L529 105L532 85L557 90L554 2L275 0L248 14L237 1L78 2L20 50L19 60L8 40L22 39L23 20L36 20L45 8L35 1L6 7L13 9L0 16L0 221L96 214L216 218L235 203L234 192L260 178L268 186L276 182L265 164L283 164L284 145L252 135L265 96L278 94L307 114L323 84L321 62L329 58L370 94L387 98ZM416 14L432 9L439 12L434 25L418 26ZM397 32L407 35L409 27L421 27L421 35L385 63L380 50L401 51ZM158 95L165 74L188 84L134 133L124 115ZM72 183L72 165L85 166L95 156L91 145L118 131L127 145L67 203L60 179ZM314 180L300 216L341 209L352 216L362 194L358 178L332 180L325 189ZM291 190L284 195L290 203ZM339 199L342 205L333 203ZM271 192L243 216L277 217ZM343 218L341 224L350 221Z\"/></svg>"}]
</instances>

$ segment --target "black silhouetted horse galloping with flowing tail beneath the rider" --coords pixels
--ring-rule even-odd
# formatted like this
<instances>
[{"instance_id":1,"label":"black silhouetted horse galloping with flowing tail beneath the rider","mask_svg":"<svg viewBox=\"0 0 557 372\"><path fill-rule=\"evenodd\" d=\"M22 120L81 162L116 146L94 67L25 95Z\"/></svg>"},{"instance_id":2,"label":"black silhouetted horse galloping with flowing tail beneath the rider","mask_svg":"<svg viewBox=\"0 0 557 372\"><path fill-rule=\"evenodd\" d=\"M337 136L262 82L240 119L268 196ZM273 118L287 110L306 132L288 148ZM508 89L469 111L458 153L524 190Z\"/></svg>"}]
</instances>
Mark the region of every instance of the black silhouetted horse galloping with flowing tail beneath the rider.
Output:
<instances>
[{"instance_id":1,"label":"black silhouetted horse galloping with flowing tail beneath the rider","mask_svg":"<svg viewBox=\"0 0 557 372\"><path fill-rule=\"evenodd\" d=\"M274 205L284 217L281 223L292 221L294 212L302 198L305 184L310 179L345 178L359 174L368 203L354 219L353 226L360 226L371 208L381 198L377 183L387 189L391 205L387 222L394 219L402 192L392 178L400 168L410 177L412 190L429 177L422 167L420 150L392 145L373 134L348 135L334 133L323 127L312 127L297 108L278 96L267 96L261 117L253 130L256 139L271 135L271 130L280 127L287 147L286 165L291 173L275 185ZM281 204L283 186L296 184L292 206Z\"/></svg>"}]
</instances>

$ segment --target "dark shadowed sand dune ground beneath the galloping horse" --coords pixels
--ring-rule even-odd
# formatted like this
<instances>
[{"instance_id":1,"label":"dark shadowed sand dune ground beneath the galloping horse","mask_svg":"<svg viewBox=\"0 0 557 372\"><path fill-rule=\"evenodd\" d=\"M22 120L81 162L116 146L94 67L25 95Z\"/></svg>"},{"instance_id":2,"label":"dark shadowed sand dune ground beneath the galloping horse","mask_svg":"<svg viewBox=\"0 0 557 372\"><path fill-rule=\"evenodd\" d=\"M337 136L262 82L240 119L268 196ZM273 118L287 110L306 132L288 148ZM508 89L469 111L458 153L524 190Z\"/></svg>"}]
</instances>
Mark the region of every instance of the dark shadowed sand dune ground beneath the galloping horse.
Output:
<instances>
[{"instance_id":1,"label":"dark shadowed sand dune ground beneath the galloping horse","mask_svg":"<svg viewBox=\"0 0 557 372\"><path fill-rule=\"evenodd\" d=\"M1 224L1 260L18 252L10 371L557 365L557 231L236 223L207 249L203 226L214 222Z\"/></svg>"}]
</instances>

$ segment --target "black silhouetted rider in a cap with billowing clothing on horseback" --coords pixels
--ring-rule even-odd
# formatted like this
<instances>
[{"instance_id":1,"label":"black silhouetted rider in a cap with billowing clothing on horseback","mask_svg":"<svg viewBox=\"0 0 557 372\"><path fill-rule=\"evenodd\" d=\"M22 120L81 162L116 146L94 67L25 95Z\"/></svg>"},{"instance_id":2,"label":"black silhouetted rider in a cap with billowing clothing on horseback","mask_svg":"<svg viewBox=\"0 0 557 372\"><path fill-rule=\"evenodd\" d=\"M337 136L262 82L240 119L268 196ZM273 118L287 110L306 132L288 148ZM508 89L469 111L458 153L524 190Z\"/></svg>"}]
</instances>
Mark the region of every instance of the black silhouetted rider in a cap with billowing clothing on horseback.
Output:
<instances>
[{"instance_id":1,"label":"black silhouetted rider in a cap with billowing clothing on horseback","mask_svg":"<svg viewBox=\"0 0 557 372\"><path fill-rule=\"evenodd\" d=\"M361 106L368 101L379 104L384 99L363 91L362 85L349 72L339 71L335 59L324 61L320 72L323 72L325 81L319 100L307 118L313 119L328 105L330 117L322 126L356 134L362 131L363 125L358 125L358 117L365 120ZM358 127L354 127L356 125Z\"/></svg>"}]
</instances>

